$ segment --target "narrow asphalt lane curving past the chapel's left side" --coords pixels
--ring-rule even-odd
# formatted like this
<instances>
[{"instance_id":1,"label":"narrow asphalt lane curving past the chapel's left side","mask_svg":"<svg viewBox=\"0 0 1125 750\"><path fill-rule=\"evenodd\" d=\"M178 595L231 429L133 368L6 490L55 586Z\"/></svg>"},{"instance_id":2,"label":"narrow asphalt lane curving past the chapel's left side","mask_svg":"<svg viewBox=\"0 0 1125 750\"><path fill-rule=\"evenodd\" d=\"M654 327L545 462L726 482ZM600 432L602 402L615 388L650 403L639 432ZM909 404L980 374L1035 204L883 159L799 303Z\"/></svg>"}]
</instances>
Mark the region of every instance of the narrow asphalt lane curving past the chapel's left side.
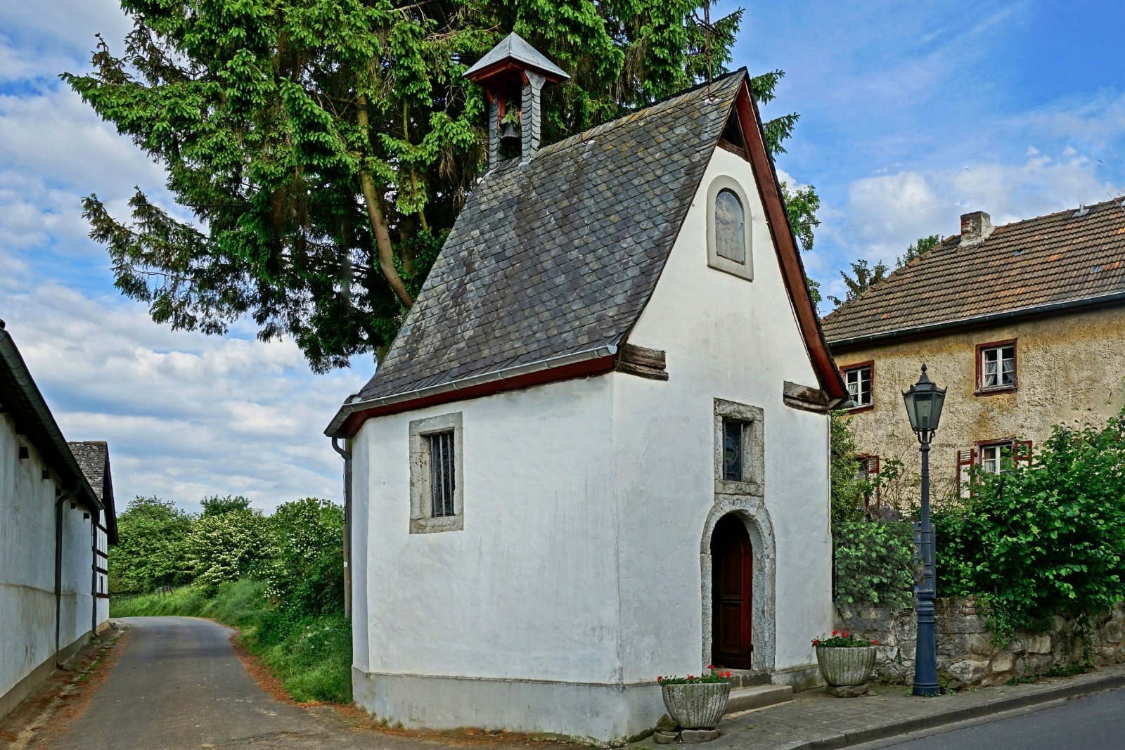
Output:
<instances>
[{"instance_id":1,"label":"narrow asphalt lane curving past the chapel's left side","mask_svg":"<svg viewBox=\"0 0 1125 750\"><path fill-rule=\"evenodd\" d=\"M270 697L235 656L233 631L225 625L195 617L120 622L132 629L128 647L86 712L63 733L33 740L30 748L406 750L459 744L448 738L354 729L334 710Z\"/></svg>"}]
</instances>

